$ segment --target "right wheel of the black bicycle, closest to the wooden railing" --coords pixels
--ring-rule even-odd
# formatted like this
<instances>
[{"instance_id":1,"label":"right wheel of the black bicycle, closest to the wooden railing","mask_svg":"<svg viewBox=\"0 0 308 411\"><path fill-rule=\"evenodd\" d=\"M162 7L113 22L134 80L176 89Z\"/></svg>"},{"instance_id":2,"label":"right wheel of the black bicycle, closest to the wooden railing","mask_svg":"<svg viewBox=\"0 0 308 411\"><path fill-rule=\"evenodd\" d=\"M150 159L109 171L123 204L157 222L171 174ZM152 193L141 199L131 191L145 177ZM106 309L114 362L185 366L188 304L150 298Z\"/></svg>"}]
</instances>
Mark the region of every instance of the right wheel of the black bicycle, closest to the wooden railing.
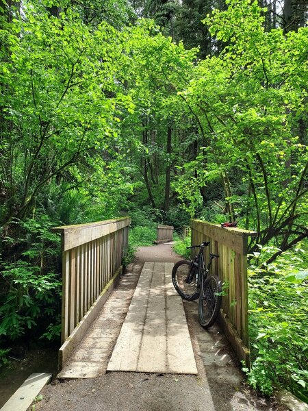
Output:
<instances>
[{"instance_id":1,"label":"right wheel of the black bicycle, closest to the wooden railing","mask_svg":"<svg viewBox=\"0 0 308 411\"><path fill-rule=\"evenodd\" d=\"M203 293L198 302L198 320L203 328L209 328L215 323L222 301L221 292L220 279L217 275L209 275L203 283Z\"/></svg>"}]
</instances>

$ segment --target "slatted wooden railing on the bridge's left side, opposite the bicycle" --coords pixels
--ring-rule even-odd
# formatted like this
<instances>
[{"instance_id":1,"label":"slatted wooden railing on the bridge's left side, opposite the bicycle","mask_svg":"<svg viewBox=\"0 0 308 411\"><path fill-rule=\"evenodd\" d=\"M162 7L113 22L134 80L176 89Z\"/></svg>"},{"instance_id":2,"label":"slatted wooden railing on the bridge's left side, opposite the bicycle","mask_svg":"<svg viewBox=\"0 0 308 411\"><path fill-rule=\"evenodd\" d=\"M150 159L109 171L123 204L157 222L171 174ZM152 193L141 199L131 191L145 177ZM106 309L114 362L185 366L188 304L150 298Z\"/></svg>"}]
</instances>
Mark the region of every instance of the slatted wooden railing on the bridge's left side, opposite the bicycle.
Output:
<instances>
[{"instance_id":1,"label":"slatted wooden railing on the bridge's left side, opposite the bicycle","mask_svg":"<svg viewBox=\"0 0 308 411\"><path fill-rule=\"evenodd\" d=\"M62 236L60 368L114 287L128 245L129 223L123 217L53 228Z\"/></svg>"}]
</instances>

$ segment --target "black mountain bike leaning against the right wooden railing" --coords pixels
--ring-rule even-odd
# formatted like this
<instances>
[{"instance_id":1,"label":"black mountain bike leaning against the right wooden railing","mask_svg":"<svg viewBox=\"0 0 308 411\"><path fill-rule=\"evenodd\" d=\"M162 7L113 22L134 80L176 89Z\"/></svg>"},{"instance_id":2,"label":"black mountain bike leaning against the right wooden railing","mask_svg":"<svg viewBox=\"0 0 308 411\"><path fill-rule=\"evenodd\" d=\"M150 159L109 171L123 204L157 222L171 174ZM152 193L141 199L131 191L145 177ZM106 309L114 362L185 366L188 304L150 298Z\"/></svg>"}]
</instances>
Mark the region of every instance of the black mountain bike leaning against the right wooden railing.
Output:
<instances>
[{"instance_id":1,"label":"black mountain bike leaning against the right wooden railing","mask_svg":"<svg viewBox=\"0 0 308 411\"><path fill-rule=\"evenodd\" d=\"M181 260L172 269L172 283L181 297L188 301L199 299L198 320L208 328L214 324L222 300L222 284L215 274L210 274L211 263L218 258L214 253L209 253L209 262L205 266L203 251L209 246L205 241L201 245L192 245L187 249L198 248L194 260Z\"/></svg>"}]
</instances>

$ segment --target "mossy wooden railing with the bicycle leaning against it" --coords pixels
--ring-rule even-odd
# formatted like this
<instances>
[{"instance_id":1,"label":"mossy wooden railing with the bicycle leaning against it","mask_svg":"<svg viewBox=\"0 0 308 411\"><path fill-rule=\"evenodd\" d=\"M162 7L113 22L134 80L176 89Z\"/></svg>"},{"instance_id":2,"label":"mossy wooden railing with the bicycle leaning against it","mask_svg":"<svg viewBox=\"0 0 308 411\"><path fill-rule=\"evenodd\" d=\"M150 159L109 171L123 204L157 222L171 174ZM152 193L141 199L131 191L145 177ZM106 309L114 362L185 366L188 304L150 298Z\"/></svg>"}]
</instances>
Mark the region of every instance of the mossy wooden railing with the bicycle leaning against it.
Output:
<instances>
[{"instance_id":1,"label":"mossy wooden railing with the bicycle leaning against it","mask_svg":"<svg viewBox=\"0 0 308 411\"><path fill-rule=\"evenodd\" d=\"M209 241L205 258L209 252L219 255L213 260L212 273L224 284L220 321L224 332L233 345L240 360L248 364L248 290L247 290L247 247L248 238L257 236L238 228L222 228L201 220L191 220L192 245Z\"/></svg>"}]
</instances>

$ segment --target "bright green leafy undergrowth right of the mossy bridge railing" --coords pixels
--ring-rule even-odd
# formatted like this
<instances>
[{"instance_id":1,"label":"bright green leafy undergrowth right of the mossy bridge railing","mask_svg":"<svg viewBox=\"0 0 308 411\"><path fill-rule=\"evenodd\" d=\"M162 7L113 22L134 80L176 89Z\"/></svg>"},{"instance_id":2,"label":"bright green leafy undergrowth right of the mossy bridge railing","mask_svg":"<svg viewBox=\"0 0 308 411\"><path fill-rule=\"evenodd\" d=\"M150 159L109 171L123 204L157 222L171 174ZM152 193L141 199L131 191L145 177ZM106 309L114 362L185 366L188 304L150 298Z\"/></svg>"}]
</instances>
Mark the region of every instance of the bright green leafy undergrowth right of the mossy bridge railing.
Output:
<instances>
[{"instance_id":1,"label":"bright green leafy undergrowth right of the mossy bridge railing","mask_svg":"<svg viewBox=\"0 0 308 411\"><path fill-rule=\"evenodd\" d=\"M260 266L272 248L260 249L248 271L251 369L244 371L266 395L283 387L308 402L307 254L298 247Z\"/></svg>"}]
</instances>

